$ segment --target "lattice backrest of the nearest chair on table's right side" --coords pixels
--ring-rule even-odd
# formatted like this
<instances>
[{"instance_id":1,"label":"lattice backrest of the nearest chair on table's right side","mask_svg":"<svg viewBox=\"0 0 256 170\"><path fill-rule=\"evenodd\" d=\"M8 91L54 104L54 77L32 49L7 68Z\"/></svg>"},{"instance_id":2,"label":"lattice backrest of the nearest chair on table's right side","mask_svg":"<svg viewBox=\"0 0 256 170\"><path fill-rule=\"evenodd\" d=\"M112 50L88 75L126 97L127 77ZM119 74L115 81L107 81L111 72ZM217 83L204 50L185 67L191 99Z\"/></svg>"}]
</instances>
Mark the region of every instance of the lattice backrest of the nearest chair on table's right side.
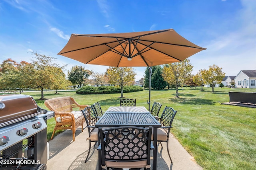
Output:
<instances>
[{"instance_id":1,"label":"lattice backrest of the nearest chair on table's right side","mask_svg":"<svg viewBox=\"0 0 256 170\"><path fill-rule=\"evenodd\" d=\"M160 124L162 127L172 127L172 121L176 115L177 111L175 111L172 107L165 107L164 111L162 113L162 116L160 118ZM164 129L167 134L170 132L170 128Z\"/></svg>"}]
</instances>

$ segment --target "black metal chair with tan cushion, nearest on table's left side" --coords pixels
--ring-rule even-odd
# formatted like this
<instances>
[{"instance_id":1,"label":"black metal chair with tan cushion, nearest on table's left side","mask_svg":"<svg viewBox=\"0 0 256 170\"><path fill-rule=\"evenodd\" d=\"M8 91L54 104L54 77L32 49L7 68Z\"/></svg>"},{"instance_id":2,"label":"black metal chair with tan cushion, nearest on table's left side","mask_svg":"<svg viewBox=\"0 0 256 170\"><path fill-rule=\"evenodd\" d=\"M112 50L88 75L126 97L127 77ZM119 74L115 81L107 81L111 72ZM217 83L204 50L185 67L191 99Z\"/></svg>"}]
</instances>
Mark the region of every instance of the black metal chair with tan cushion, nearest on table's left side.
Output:
<instances>
[{"instance_id":1,"label":"black metal chair with tan cushion, nearest on table's left side","mask_svg":"<svg viewBox=\"0 0 256 170\"><path fill-rule=\"evenodd\" d=\"M87 159L90 155L90 150L91 150L91 142L95 142L94 146L96 145L96 143L98 142L98 128L95 127L95 123L98 121L97 119L97 115L95 113L95 110L92 106L88 106L88 107L85 107L84 110L82 110L82 113L84 115L84 118L85 118L85 121L86 121L86 124L87 124L87 129L88 129L88 134L89 134L89 137L86 139L89 140L89 150L88 150L88 154L86 156L86 159L85 159L85 163L87 162Z\"/></svg>"}]
</instances>

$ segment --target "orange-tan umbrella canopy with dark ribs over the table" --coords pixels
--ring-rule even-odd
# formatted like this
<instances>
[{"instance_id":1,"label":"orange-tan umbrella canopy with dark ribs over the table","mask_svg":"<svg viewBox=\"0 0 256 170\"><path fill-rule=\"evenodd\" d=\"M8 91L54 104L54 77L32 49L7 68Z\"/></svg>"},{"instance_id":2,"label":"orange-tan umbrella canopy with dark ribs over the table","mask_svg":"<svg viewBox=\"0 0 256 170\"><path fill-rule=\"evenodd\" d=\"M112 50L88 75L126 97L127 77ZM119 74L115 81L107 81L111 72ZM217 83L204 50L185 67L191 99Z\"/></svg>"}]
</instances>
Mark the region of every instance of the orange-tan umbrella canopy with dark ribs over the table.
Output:
<instances>
[{"instance_id":1,"label":"orange-tan umbrella canopy with dark ribs over the table","mask_svg":"<svg viewBox=\"0 0 256 170\"><path fill-rule=\"evenodd\" d=\"M58 53L85 64L156 66L175 63L205 48L191 43L174 29L110 34L72 34Z\"/></svg>"}]
</instances>

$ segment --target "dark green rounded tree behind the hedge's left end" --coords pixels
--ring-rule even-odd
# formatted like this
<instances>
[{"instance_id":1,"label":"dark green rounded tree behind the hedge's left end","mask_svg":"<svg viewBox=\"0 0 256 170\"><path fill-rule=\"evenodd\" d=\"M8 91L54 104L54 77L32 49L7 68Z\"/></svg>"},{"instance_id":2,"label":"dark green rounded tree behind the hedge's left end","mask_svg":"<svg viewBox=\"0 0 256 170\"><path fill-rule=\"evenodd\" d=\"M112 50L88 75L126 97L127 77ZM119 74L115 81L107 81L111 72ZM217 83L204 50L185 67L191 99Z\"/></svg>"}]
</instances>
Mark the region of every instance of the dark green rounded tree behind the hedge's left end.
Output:
<instances>
[{"instance_id":1,"label":"dark green rounded tree behind the hedge's left end","mask_svg":"<svg viewBox=\"0 0 256 170\"><path fill-rule=\"evenodd\" d=\"M68 71L68 80L72 82L74 85L74 89L76 89L76 84L79 84L82 87L83 82L88 78L91 74L90 70L86 70L82 66L73 66L70 71Z\"/></svg>"}]
</instances>

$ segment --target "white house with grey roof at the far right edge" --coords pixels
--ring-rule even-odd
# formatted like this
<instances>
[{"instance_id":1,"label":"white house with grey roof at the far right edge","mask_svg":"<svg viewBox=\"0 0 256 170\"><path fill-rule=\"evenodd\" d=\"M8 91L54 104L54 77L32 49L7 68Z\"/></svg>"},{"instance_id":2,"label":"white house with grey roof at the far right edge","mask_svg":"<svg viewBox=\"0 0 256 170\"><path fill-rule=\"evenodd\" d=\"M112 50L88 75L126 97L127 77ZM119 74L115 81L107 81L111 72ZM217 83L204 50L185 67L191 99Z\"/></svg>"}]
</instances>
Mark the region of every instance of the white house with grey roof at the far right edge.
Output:
<instances>
[{"instance_id":1,"label":"white house with grey roof at the far right edge","mask_svg":"<svg viewBox=\"0 0 256 170\"><path fill-rule=\"evenodd\" d=\"M235 87L256 88L256 70L241 70L235 78Z\"/></svg>"}]
</instances>

